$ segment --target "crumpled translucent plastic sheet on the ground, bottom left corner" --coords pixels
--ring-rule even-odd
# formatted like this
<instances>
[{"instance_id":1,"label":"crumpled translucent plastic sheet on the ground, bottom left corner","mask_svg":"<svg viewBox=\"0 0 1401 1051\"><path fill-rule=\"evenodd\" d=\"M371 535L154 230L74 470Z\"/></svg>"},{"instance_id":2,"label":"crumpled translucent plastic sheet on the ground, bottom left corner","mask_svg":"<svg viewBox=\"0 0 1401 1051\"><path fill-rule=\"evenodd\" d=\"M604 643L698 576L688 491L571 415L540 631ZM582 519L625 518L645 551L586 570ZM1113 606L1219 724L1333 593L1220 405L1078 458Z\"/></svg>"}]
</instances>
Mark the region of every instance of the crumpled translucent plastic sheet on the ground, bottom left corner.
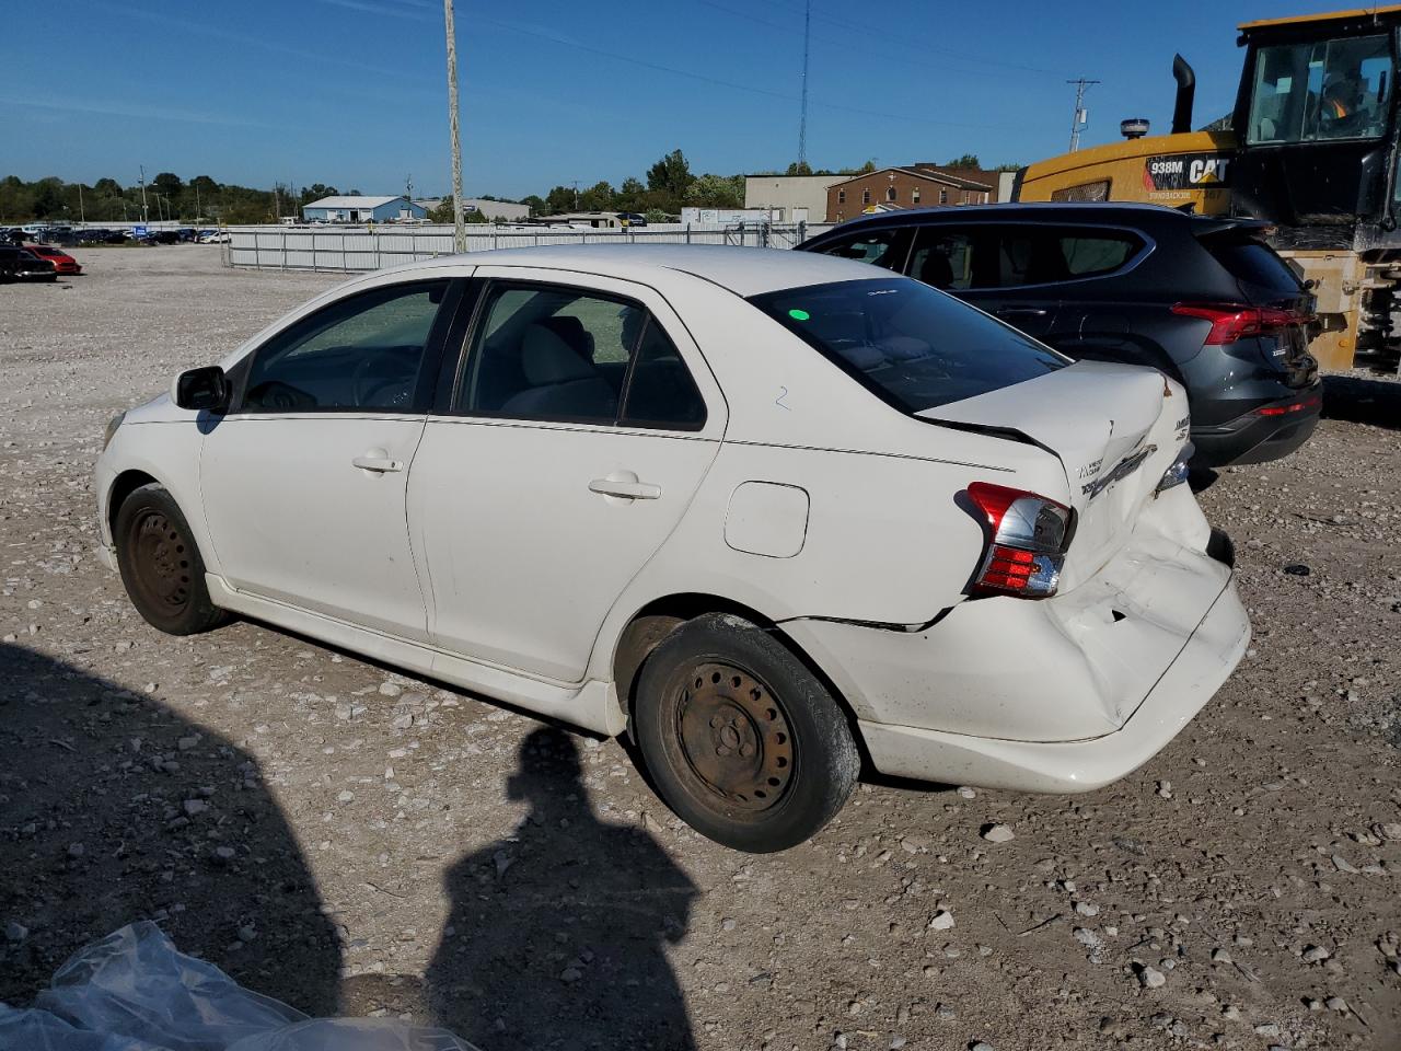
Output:
<instances>
[{"instance_id":1,"label":"crumpled translucent plastic sheet on the ground, bottom left corner","mask_svg":"<svg viewBox=\"0 0 1401 1051\"><path fill-rule=\"evenodd\" d=\"M472 1051L389 1019L308 1019L185 956L156 923L77 953L31 1010L0 1003L0 1051Z\"/></svg>"}]
</instances>

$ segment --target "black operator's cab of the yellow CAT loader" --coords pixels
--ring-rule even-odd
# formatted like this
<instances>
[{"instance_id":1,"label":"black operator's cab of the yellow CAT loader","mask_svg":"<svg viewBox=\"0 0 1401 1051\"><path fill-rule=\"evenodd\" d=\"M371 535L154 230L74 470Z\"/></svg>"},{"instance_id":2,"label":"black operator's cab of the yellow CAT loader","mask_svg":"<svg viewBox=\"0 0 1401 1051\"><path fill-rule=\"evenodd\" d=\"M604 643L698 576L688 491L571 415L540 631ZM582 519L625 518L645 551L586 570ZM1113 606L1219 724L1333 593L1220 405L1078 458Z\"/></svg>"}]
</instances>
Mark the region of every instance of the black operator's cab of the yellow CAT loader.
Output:
<instances>
[{"instance_id":1,"label":"black operator's cab of the yellow CAT loader","mask_svg":"<svg viewBox=\"0 0 1401 1051\"><path fill-rule=\"evenodd\" d=\"M1241 27L1233 210L1278 223L1281 247L1391 240L1398 29L1401 7Z\"/></svg>"}]
</instances>

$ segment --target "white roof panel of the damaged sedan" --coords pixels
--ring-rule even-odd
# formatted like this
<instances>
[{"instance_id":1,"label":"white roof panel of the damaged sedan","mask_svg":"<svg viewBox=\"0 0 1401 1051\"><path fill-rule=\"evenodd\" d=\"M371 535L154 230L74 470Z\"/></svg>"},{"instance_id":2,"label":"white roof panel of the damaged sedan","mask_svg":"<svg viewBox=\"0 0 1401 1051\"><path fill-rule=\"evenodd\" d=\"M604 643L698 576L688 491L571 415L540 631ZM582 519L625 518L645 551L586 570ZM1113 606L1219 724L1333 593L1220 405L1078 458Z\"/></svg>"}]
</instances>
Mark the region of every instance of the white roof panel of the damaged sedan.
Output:
<instances>
[{"instance_id":1,"label":"white roof panel of the damaged sedan","mask_svg":"<svg viewBox=\"0 0 1401 1051\"><path fill-rule=\"evenodd\" d=\"M574 244L532 248L499 248L488 252L439 256L395 268L399 272L444 263L478 266L538 266L586 270L607 277L647 283L657 270L688 273L729 289L737 296L758 296L779 289L890 277L871 266L831 255L780 248L743 248L710 244Z\"/></svg>"}]
</instances>

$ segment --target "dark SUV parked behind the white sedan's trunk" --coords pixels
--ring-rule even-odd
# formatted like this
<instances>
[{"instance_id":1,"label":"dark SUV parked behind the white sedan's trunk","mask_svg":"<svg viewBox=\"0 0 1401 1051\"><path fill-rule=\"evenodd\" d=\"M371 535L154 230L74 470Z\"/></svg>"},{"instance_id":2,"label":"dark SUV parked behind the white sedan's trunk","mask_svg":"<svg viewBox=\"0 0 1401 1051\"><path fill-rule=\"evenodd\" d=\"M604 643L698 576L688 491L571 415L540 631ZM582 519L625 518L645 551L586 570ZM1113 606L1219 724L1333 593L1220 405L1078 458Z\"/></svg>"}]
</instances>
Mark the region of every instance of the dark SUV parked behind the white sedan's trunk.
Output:
<instances>
[{"instance_id":1,"label":"dark SUV parked behind the white sedan's trunk","mask_svg":"<svg viewBox=\"0 0 1401 1051\"><path fill-rule=\"evenodd\" d=\"M1192 465L1212 468L1293 453L1323 408L1313 296L1264 228L1157 205L989 205L856 219L800 248L906 273L1069 357L1161 370L1191 399Z\"/></svg>"}]
</instances>

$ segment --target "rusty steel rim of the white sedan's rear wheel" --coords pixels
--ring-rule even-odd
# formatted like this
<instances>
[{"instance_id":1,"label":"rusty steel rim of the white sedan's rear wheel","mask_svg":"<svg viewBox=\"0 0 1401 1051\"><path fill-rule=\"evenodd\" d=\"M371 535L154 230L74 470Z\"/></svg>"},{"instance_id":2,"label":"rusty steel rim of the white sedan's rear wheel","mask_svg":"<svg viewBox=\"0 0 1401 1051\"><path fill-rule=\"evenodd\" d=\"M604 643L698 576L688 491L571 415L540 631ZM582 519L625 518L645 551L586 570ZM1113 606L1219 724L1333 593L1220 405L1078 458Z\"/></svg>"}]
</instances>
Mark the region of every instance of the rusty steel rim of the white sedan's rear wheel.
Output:
<instances>
[{"instance_id":1,"label":"rusty steel rim of the white sedan's rear wheel","mask_svg":"<svg viewBox=\"0 0 1401 1051\"><path fill-rule=\"evenodd\" d=\"M793 779L793 731L773 692L733 664L700 664L667 703L675 744L722 813L778 806Z\"/></svg>"}]
</instances>

